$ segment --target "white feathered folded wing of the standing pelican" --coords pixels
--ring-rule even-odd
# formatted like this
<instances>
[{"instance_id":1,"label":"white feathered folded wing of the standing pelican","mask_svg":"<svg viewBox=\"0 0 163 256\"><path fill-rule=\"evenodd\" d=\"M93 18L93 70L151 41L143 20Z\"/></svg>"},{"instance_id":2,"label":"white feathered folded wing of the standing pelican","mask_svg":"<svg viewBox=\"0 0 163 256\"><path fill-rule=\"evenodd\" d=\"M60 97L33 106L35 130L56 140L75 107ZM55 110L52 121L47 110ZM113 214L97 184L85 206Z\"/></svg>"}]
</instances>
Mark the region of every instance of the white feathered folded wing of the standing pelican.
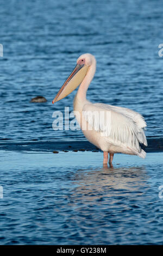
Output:
<instances>
[{"instance_id":1,"label":"white feathered folded wing of the standing pelican","mask_svg":"<svg viewBox=\"0 0 163 256\"><path fill-rule=\"evenodd\" d=\"M88 103L83 107L83 115L94 130L109 137L115 144L124 143L128 147L140 150L140 143L147 145L143 127L145 121L139 113L127 108L102 103Z\"/></svg>"}]
</instances>

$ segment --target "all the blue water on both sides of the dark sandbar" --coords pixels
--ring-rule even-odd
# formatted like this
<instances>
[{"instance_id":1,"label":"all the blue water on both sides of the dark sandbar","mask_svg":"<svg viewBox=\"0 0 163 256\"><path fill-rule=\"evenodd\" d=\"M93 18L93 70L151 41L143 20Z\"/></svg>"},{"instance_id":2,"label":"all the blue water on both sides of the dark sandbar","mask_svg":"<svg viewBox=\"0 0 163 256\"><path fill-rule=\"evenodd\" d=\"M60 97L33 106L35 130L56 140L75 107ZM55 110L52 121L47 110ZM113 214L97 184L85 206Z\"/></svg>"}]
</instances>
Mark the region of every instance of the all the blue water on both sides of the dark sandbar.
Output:
<instances>
[{"instance_id":1,"label":"all the blue water on both sides of the dark sandbar","mask_svg":"<svg viewBox=\"0 0 163 256\"><path fill-rule=\"evenodd\" d=\"M54 111L73 110L76 92L52 100L85 52L97 59L87 98L140 112L146 135L161 137L162 13L162 0L1 1L0 140L54 141L55 149L85 139L52 129ZM37 95L47 102L30 103ZM67 164L64 153L0 153L0 243L162 243L162 155L149 154L145 166L118 155L122 166L110 170L85 155L73 165L78 153Z\"/></svg>"}]
</instances>

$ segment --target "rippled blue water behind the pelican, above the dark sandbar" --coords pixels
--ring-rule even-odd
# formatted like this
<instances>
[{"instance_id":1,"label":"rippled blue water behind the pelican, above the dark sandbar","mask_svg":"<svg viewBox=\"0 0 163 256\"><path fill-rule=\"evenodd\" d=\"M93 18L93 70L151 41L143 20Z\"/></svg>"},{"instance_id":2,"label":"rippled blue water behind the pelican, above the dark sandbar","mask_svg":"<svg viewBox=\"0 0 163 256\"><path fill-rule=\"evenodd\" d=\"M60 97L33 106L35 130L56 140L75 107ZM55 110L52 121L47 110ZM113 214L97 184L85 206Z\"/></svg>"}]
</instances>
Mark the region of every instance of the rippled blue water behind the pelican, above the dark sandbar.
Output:
<instances>
[{"instance_id":1,"label":"rippled blue water behind the pelican, above the dark sandbar","mask_svg":"<svg viewBox=\"0 0 163 256\"><path fill-rule=\"evenodd\" d=\"M52 114L70 106L75 92L52 105L80 54L97 58L87 98L135 109L147 136L161 136L162 1L26 1L1 3L1 138L76 139L80 131L52 129ZM30 103L34 96L48 100Z\"/></svg>"}]
</instances>

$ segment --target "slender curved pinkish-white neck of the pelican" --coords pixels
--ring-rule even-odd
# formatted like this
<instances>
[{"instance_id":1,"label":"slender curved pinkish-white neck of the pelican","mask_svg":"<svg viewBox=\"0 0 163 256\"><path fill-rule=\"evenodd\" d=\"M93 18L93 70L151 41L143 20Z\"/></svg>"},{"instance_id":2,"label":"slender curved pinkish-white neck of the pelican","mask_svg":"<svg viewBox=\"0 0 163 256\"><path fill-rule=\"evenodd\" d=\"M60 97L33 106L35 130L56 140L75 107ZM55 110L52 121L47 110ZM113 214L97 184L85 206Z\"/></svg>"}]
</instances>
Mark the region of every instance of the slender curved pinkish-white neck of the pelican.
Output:
<instances>
[{"instance_id":1,"label":"slender curved pinkish-white neck of the pelican","mask_svg":"<svg viewBox=\"0 0 163 256\"><path fill-rule=\"evenodd\" d=\"M89 88L89 85L93 79L93 76L95 75L96 72L96 59L93 59L93 62L91 66L89 67L86 76L84 77L84 80L79 86L78 92L77 92L77 97L79 100L86 100L86 92L87 88Z\"/></svg>"}]
</instances>

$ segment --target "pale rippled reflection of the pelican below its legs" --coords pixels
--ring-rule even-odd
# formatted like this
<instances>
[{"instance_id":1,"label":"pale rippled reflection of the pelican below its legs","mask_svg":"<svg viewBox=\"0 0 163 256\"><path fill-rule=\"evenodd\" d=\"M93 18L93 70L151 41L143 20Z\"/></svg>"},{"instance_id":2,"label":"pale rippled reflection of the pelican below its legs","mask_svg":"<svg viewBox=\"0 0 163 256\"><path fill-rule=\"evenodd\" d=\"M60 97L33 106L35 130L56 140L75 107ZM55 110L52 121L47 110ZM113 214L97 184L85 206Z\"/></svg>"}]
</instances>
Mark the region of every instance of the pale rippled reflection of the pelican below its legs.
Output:
<instances>
[{"instance_id":1,"label":"pale rippled reflection of the pelican below its legs","mask_svg":"<svg viewBox=\"0 0 163 256\"><path fill-rule=\"evenodd\" d=\"M108 172L110 170L110 172ZM148 176L145 167L108 167L101 169L79 169L72 177L73 188L71 199L82 202L93 202L102 198L121 196L142 196L148 188L146 180ZM134 193L133 193L134 192ZM115 200L115 198L114 198ZM86 203L86 204L87 204Z\"/></svg>"}]
</instances>

